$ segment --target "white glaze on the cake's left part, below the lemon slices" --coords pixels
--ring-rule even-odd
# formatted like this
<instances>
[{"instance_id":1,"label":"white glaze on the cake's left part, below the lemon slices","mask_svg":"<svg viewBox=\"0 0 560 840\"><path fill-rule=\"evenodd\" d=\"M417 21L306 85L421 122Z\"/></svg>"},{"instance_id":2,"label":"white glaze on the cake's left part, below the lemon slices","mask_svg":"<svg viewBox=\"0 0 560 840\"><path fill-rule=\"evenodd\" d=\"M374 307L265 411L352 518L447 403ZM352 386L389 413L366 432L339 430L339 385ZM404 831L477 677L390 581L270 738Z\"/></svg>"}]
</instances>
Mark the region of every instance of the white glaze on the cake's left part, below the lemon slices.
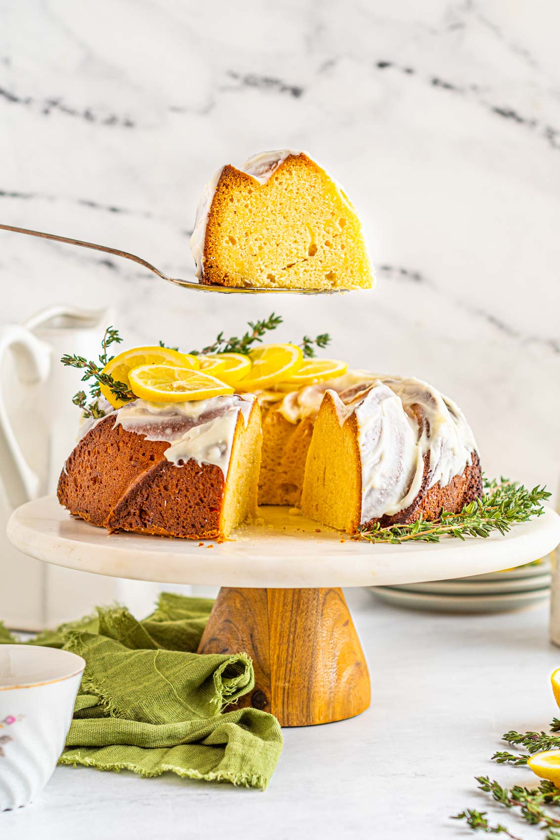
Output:
<instances>
[{"instance_id":1,"label":"white glaze on the cake's left part, below the lemon slices","mask_svg":"<svg viewBox=\"0 0 560 840\"><path fill-rule=\"evenodd\" d=\"M111 412L115 424L127 432L170 444L164 454L172 464L182 466L194 459L201 465L218 466L227 477L237 417L241 414L247 425L254 401L251 394L186 402L135 400ZM102 420L83 423L82 436Z\"/></svg>"}]
</instances>

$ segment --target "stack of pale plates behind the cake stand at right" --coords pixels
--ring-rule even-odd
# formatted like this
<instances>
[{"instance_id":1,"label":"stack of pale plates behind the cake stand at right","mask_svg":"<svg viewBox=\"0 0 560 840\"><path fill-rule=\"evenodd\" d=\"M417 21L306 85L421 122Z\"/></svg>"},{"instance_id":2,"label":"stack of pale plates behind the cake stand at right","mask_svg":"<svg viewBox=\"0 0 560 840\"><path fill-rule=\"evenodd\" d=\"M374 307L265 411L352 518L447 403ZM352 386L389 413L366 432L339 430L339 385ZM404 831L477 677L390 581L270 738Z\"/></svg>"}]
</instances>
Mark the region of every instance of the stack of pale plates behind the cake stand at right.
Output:
<instances>
[{"instance_id":1,"label":"stack of pale plates behind the cake stand at right","mask_svg":"<svg viewBox=\"0 0 560 840\"><path fill-rule=\"evenodd\" d=\"M551 561L546 558L489 575L369 588L381 601L413 610L506 612L545 600L551 580Z\"/></svg>"}]
</instances>

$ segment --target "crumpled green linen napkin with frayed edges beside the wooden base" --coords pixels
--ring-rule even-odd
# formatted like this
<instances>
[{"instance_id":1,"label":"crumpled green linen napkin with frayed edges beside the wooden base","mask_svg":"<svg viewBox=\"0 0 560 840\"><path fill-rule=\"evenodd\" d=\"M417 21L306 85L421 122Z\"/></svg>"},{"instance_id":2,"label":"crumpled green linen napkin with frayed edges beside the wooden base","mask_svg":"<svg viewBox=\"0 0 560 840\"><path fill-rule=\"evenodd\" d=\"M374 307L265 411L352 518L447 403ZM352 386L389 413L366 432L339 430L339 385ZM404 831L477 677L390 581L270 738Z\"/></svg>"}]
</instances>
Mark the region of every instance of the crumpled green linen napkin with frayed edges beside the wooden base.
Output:
<instances>
[{"instance_id":1,"label":"crumpled green linen napkin with frayed edges beside the wooden base","mask_svg":"<svg viewBox=\"0 0 560 840\"><path fill-rule=\"evenodd\" d=\"M275 717L224 711L255 685L246 654L196 654L213 601L163 593L137 621L122 606L30 644L86 660L60 764L230 781L265 790L283 746ZM15 639L0 624L0 643Z\"/></svg>"}]
</instances>

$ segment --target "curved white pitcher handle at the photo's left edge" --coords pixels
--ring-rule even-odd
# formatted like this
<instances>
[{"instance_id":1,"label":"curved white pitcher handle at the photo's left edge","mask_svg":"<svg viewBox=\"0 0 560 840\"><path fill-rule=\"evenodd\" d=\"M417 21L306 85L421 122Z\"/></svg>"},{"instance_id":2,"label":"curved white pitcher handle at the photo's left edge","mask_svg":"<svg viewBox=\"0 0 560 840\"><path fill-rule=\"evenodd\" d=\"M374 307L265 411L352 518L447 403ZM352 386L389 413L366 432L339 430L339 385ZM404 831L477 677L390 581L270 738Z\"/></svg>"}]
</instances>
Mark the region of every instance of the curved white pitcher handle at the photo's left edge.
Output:
<instances>
[{"instance_id":1,"label":"curved white pitcher handle at the photo's left edge","mask_svg":"<svg viewBox=\"0 0 560 840\"><path fill-rule=\"evenodd\" d=\"M0 327L0 370L8 349L16 354L18 379L25 385L45 381L50 370L49 349L24 327ZM9 421L0 382L0 475L12 507L34 499L40 492L40 478L29 466Z\"/></svg>"}]
</instances>

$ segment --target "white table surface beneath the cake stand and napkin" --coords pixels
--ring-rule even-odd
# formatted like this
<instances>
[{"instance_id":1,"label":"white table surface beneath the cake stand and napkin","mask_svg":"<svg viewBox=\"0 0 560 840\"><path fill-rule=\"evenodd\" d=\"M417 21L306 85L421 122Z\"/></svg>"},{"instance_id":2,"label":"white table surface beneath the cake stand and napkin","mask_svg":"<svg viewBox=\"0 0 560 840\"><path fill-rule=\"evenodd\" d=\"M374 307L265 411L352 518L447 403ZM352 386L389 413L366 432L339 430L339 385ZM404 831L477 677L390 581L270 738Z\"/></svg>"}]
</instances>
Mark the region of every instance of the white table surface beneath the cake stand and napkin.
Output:
<instances>
[{"instance_id":1,"label":"white table surface beneath the cake stand and napkin","mask_svg":"<svg viewBox=\"0 0 560 840\"><path fill-rule=\"evenodd\" d=\"M58 768L32 806L0 814L2 840L474 837L447 817L465 806L493 811L475 774L536 780L489 761L506 748L500 735L546 728L558 714L549 676L560 649L548 641L547 605L449 616L385 606L366 590L346 597L372 672L372 706L350 721L284 729L265 793L173 774ZM514 833L534 836L525 826Z\"/></svg>"}]
</instances>

